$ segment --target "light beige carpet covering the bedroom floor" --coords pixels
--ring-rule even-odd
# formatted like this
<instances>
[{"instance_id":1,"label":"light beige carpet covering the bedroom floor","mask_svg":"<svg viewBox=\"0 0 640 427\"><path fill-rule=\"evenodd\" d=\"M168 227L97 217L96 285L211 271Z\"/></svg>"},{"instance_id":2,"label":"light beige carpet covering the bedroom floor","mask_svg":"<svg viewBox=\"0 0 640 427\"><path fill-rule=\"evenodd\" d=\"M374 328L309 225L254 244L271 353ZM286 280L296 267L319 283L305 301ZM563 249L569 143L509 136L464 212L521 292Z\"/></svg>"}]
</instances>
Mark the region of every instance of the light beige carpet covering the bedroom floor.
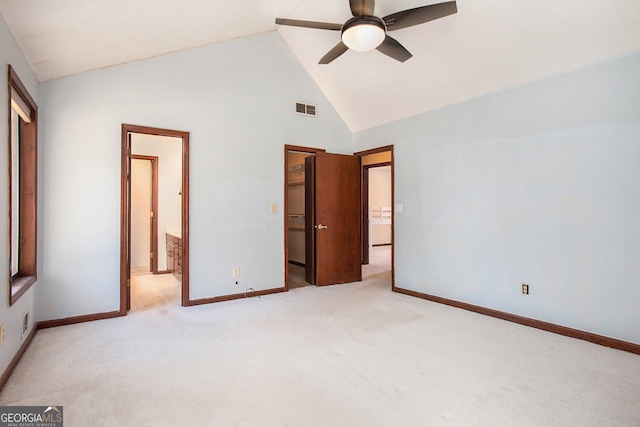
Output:
<instances>
[{"instance_id":1,"label":"light beige carpet covering the bedroom floor","mask_svg":"<svg viewBox=\"0 0 640 427\"><path fill-rule=\"evenodd\" d=\"M640 425L640 356L365 277L190 308L168 286L41 330L0 404L63 405L67 427Z\"/></svg>"}]
</instances>

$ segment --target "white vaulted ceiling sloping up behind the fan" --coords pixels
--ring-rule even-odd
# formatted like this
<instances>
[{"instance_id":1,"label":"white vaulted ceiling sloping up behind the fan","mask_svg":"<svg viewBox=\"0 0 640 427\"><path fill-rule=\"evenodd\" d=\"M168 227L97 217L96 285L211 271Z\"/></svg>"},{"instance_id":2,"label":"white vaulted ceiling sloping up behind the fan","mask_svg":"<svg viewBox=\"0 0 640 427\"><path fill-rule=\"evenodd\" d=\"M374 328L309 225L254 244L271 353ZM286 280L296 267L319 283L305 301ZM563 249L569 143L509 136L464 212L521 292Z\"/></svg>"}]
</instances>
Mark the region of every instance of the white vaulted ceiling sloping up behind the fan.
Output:
<instances>
[{"instance_id":1,"label":"white vaulted ceiling sloping up behind the fan","mask_svg":"<svg viewBox=\"0 0 640 427\"><path fill-rule=\"evenodd\" d=\"M377 0L385 16L436 0ZM458 13L393 32L413 57L348 51L319 59L348 0L0 0L41 82L277 30L356 132L640 49L638 0L458 0Z\"/></svg>"}]
</instances>

